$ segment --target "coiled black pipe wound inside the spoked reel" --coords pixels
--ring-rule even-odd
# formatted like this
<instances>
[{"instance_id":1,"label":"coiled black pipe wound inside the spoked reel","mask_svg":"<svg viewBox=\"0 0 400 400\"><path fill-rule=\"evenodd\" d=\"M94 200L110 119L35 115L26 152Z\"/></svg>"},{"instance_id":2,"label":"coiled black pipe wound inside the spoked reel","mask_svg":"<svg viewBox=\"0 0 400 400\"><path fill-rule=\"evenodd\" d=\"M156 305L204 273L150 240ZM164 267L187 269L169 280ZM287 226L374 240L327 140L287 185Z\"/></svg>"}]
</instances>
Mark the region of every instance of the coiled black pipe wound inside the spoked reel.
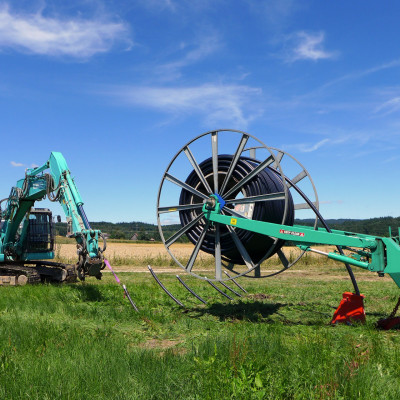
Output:
<instances>
[{"instance_id":1,"label":"coiled black pipe wound inside the spoked reel","mask_svg":"<svg viewBox=\"0 0 400 400\"><path fill-rule=\"evenodd\" d=\"M232 163L232 155L218 155L218 182L219 187L221 187L227 173L229 166ZM251 173L258 165L259 161L249 157L241 156L236 164L234 171L232 172L231 178L227 183L224 192L227 193L236 183L245 178L249 173ZM199 167L211 186L213 180L213 164L212 158L208 158L199 164ZM209 195L203 183L200 181L196 171L192 171L187 177L186 184L195 188L205 195ZM212 187L212 186L211 186ZM253 179L248 181L242 186L240 190L232 193L229 198L224 198L224 200L239 199L241 197L250 197L263 194L273 194L284 191L284 184L279 175L273 172L268 167L261 170ZM223 196L223 194L222 194ZM195 194L182 189L179 198L179 204L196 204L201 203L202 199ZM253 220L272 222L276 224L284 224L292 226L294 222L294 204L290 192L288 192L288 209L285 214L285 200L277 201L262 201L251 203L254 207L252 213L247 217ZM234 205L230 206L234 208ZM237 210L236 210L237 211ZM199 216L201 210L181 210L179 211L180 223L182 226L186 226L190 222ZM283 220L284 219L284 220ZM205 225L205 220L202 219L198 224L195 224L191 229L186 232L189 240L196 244L200 240L200 235L203 231ZM257 234L251 231L234 228L235 232L243 243L248 252L249 256L255 264L258 264L263 258L268 254L269 257L274 255L284 244L283 240L276 241L265 235ZM233 264L244 265L240 252L226 226L220 227L220 243L221 243L221 257L224 261ZM214 254L215 252L215 234L213 228L209 228L203 243L201 245L201 250L206 253Z\"/></svg>"}]
</instances>

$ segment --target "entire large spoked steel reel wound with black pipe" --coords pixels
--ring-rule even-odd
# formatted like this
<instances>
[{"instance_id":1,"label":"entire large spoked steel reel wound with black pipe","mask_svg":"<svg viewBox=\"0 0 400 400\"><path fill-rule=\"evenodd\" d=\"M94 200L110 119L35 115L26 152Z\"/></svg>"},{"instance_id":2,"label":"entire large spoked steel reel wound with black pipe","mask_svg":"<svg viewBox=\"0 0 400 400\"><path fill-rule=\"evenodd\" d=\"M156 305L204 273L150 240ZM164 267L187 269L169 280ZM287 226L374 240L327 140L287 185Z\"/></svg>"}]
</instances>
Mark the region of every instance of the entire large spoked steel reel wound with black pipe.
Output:
<instances>
[{"instance_id":1,"label":"entire large spoked steel reel wound with black pipe","mask_svg":"<svg viewBox=\"0 0 400 400\"><path fill-rule=\"evenodd\" d=\"M205 161L198 164L198 155ZM296 158L243 131L205 132L174 155L157 195L161 240L176 264L199 279L236 283L235 279L241 276L269 278L287 271L305 254L297 247L283 247L282 240L251 232L250 226L247 230L237 228L232 221L210 222L203 204L212 194L222 198L221 204L225 201L220 212L230 218L270 222L275 227L292 226L295 213L298 218L297 212L304 210L313 214L314 229L318 229L320 221L330 231L319 212L314 182ZM188 253L178 244L185 235L194 244ZM213 270L204 268L201 251L214 257ZM273 259L263 263L273 255ZM235 276L227 274L224 268ZM359 293L350 266L346 268L355 292ZM223 278L223 272L227 278Z\"/></svg>"}]
</instances>

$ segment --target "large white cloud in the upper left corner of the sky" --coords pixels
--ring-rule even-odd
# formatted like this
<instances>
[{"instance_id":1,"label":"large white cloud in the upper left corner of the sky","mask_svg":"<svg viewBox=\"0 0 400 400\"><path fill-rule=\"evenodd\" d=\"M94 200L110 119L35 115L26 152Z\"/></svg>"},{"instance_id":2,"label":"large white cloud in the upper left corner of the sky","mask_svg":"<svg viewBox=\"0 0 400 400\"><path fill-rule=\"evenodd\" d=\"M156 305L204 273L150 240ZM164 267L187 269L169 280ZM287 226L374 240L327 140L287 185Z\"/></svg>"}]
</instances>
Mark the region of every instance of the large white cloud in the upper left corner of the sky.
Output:
<instances>
[{"instance_id":1,"label":"large white cloud in the upper left corner of the sky","mask_svg":"<svg viewBox=\"0 0 400 400\"><path fill-rule=\"evenodd\" d=\"M103 53L117 41L128 41L122 22L57 19L36 14L16 14L0 6L0 48L49 56L88 58Z\"/></svg>"}]
</instances>

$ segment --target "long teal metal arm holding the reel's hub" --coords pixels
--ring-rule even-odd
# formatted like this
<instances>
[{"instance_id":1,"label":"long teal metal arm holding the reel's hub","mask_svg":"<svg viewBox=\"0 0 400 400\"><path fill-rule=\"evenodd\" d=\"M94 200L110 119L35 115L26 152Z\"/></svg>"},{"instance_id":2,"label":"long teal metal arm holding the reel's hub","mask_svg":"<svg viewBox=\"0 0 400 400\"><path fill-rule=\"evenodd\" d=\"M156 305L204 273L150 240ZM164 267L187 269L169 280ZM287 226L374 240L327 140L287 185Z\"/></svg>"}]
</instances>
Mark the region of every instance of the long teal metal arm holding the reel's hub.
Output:
<instances>
[{"instance_id":1,"label":"long teal metal arm holding the reel's hub","mask_svg":"<svg viewBox=\"0 0 400 400\"><path fill-rule=\"evenodd\" d=\"M300 249L326 255L339 262L348 263L379 275L388 274L400 287L400 229L398 237L378 237L353 232L314 229L309 226L286 226L221 214L217 196L210 196L203 206L204 217L212 223L229 225L278 239L294 242ZM351 254L323 253L312 249L313 244L342 246Z\"/></svg>"}]
</instances>

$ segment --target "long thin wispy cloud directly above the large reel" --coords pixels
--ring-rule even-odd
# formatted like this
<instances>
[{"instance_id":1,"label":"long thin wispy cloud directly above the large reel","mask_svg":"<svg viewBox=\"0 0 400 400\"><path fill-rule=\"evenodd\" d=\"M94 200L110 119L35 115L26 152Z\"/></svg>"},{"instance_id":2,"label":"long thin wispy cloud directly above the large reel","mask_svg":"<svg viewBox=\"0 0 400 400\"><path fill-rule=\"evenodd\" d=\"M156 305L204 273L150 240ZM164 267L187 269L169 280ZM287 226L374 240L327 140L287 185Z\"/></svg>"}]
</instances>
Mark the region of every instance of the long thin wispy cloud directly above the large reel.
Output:
<instances>
[{"instance_id":1,"label":"long thin wispy cloud directly above the large reel","mask_svg":"<svg viewBox=\"0 0 400 400\"><path fill-rule=\"evenodd\" d=\"M207 123L232 122L245 128L261 109L261 89L242 85L208 84L193 87L116 86L103 91L135 107L184 116L199 114Z\"/></svg>"}]
</instances>

